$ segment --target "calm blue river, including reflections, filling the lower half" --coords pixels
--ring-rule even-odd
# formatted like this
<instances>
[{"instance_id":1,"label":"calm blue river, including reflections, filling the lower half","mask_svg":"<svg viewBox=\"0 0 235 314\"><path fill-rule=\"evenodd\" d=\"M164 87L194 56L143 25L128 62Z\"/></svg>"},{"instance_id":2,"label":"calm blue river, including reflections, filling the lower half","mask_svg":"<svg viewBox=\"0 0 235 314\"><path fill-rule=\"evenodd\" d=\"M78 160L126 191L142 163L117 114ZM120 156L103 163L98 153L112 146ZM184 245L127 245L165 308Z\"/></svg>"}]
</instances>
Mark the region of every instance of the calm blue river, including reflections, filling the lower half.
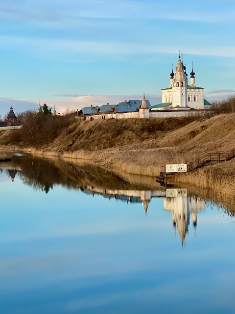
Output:
<instances>
[{"instance_id":1,"label":"calm blue river, including reflections, filling the lower half","mask_svg":"<svg viewBox=\"0 0 235 314\"><path fill-rule=\"evenodd\" d=\"M0 167L0 313L235 313L226 210L91 166Z\"/></svg>"}]
</instances>

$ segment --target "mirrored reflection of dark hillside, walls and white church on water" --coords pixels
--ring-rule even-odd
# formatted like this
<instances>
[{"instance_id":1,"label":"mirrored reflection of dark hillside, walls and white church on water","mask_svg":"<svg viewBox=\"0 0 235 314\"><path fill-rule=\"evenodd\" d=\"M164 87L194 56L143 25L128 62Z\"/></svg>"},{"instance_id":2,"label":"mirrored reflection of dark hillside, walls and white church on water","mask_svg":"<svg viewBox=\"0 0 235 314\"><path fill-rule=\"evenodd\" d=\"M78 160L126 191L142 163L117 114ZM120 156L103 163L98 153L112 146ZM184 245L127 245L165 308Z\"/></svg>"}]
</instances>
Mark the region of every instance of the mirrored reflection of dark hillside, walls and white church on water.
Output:
<instances>
[{"instance_id":1,"label":"mirrored reflection of dark hillside, walls and white church on water","mask_svg":"<svg viewBox=\"0 0 235 314\"><path fill-rule=\"evenodd\" d=\"M150 189L145 184L130 183L118 175L94 165L74 165L61 159L35 158L30 155L15 155L12 162L1 164L14 183L17 174L24 184L48 193L56 184L79 189L85 194L115 198L127 204L142 203L145 215L152 198L164 199L164 210L172 212L173 226L178 232L182 245L185 243L190 224L194 232L197 226L197 213L206 208L206 201L198 195L188 193L186 188ZM1 170L1 171L4 171Z\"/></svg>"}]
</instances>

